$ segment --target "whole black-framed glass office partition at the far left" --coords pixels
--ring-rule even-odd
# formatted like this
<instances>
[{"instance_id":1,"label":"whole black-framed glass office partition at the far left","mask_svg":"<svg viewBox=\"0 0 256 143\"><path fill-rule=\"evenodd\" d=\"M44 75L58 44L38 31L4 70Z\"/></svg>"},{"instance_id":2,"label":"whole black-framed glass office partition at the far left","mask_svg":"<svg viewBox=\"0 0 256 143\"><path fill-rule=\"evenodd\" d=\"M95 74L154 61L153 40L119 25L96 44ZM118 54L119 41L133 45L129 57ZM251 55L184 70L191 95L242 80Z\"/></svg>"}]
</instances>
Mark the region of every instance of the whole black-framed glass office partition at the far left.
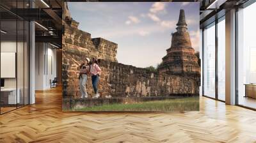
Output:
<instances>
[{"instance_id":1,"label":"whole black-framed glass office partition at the far left","mask_svg":"<svg viewBox=\"0 0 256 143\"><path fill-rule=\"evenodd\" d=\"M25 8L26 3L0 2L13 9ZM0 8L0 30L0 114L3 114L29 103L29 22Z\"/></svg>"}]
</instances>

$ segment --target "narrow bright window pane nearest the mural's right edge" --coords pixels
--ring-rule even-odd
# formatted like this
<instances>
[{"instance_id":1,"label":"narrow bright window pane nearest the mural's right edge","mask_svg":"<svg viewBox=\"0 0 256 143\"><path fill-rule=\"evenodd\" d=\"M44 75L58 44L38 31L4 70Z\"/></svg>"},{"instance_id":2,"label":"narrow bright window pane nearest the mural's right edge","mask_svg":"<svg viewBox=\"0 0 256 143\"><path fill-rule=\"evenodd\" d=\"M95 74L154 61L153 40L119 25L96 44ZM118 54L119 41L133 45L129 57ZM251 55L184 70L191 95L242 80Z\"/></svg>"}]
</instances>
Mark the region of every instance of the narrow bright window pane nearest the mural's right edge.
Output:
<instances>
[{"instance_id":1,"label":"narrow bright window pane nearest the mural's right edge","mask_svg":"<svg viewBox=\"0 0 256 143\"><path fill-rule=\"evenodd\" d=\"M215 25L204 29L204 95L215 98Z\"/></svg>"}]
</instances>

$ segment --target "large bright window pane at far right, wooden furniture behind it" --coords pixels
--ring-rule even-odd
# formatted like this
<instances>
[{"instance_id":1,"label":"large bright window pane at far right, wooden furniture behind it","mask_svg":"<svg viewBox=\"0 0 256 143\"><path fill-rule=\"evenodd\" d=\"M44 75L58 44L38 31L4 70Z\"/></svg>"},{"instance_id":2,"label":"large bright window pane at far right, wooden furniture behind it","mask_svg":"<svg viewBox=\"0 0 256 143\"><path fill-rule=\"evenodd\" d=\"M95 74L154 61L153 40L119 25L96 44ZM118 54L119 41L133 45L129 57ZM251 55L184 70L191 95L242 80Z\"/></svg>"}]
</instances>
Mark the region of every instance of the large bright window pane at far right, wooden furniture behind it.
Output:
<instances>
[{"instance_id":1,"label":"large bright window pane at far right, wooden furniture behind it","mask_svg":"<svg viewBox=\"0 0 256 143\"><path fill-rule=\"evenodd\" d=\"M238 11L238 104L256 109L256 3Z\"/></svg>"}]
</instances>

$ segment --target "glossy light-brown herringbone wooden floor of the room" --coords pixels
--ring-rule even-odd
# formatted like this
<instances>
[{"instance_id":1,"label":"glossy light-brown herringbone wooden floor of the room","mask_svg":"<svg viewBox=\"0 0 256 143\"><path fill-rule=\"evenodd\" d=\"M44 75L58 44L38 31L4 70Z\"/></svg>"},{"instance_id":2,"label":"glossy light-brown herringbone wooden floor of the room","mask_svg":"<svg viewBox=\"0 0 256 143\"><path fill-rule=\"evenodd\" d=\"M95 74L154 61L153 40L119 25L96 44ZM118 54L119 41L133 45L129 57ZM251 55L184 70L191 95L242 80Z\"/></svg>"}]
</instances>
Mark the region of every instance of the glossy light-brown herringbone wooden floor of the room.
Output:
<instances>
[{"instance_id":1,"label":"glossy light-brown herringbone wooden floor of the room","mask_svg":"<svg viewBox=\"0 0 256 143\"><path fill-rule=\"evenodd\" d=\"M256 112L200 98L200 112L61 111L60 88L0 116L0 142L256 142Z\"/></svg>"}]
</instances>

